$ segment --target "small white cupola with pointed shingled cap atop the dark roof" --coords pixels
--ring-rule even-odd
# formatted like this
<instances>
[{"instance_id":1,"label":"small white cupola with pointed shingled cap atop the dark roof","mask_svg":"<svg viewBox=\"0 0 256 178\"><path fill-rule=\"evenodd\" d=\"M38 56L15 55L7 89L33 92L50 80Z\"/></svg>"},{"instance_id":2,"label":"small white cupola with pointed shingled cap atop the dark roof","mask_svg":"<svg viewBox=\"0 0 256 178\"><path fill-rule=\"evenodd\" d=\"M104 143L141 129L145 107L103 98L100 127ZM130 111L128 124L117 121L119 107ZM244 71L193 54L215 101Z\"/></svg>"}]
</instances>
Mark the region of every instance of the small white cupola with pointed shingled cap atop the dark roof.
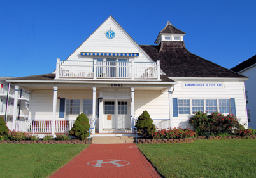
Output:
<instances>
[{"instance_id":1,"label":"small white cupola with pointed shingled cap atop the dark roof","mask_svg":"<svg viewBox=\"0 0 256 178\"><path fill-rule=\"evenodd\" d=\"M155 43L160 44L162 41L183 41L185 34L185 32L174 27L168 20L166 27L160 31Z\"/></svg>"}]
</instances>

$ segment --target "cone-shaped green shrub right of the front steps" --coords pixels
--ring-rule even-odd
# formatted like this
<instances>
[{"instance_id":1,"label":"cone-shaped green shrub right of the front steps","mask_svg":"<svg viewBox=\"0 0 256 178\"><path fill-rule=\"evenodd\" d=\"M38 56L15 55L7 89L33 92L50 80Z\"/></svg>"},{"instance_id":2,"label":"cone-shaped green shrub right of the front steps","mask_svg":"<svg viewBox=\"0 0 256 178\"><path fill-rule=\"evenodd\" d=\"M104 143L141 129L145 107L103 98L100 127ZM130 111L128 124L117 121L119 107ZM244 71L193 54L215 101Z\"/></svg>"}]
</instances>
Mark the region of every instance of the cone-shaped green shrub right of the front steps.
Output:
<instances>
[{"instance_id":1,"label":"cone-shaped green shrub right of the front steps","mask_svg":"<svg viewBox=\"0 0 256 178\"><path fill-rule=\"evenodd\" d=\"M143 111L139 116L135 127L138 129L138 132L141 132L141 135L146 138L152 137L152 132L156 130L153 120L150 118L147 111Z\"/></svg>"}]
</instances>

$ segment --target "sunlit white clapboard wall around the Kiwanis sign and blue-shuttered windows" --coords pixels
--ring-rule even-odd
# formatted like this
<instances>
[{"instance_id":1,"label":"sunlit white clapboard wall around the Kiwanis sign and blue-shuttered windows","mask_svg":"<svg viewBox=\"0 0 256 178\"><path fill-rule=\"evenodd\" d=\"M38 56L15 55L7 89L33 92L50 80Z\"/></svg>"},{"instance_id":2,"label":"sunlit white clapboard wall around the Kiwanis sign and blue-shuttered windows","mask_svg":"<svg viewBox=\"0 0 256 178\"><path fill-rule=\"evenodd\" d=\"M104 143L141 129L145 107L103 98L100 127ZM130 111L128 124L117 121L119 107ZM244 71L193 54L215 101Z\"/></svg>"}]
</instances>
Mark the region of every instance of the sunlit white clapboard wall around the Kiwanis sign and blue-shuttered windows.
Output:
<instances>
[{"instance_id":1,"label":"sunlit white clapboard wall around the Kiwanis sign and blue-shuttered windows","mask_svg":"<svg viewBox=\"0 0 256 178\"><path fill-rule=\"evenodd\" d=\"M179 81L175 86L173 98L178 99L230 99L235 98L236 115L241 119L241 123L247 124L245 87L243 82L224 82L223 89L184 89ZM188 124L189 115L179 115L174 117L174 127L191 127Z\"/></svg>"}]
</instances>

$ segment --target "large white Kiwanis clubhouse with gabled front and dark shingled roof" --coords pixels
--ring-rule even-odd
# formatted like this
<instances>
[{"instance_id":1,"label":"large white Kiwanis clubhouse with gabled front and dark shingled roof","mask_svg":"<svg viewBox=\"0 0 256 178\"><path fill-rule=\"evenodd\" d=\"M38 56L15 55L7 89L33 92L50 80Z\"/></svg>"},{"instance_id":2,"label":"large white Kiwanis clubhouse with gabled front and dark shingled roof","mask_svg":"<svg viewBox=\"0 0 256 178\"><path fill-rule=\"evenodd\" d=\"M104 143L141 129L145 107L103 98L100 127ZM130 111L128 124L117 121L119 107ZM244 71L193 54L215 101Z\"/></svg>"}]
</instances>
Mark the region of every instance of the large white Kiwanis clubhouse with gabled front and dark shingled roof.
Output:
<instances>
[{"instance_id":1,"label":"large white Kiwanis clubhouse with gabled front and dark shingled roof","mask_svg":"<svg viewBox=\"0 0 256 178\"><path fill-rule=\"evenodd\" d=\"M136 30L136 29L134 29ZM157 45L138 45L110 16L56 70L8 79L31 92L29 120L10 129L34 133L68 132L85 113L99 133L132 133L146 110L159 129L190 127L196 111L233 113L247 124L247 77L190 53L185 32L170 22ZM13 118L16 118L13 111ZM130 120L131 118L131 120Z\"/></svg>"}]
</instances>

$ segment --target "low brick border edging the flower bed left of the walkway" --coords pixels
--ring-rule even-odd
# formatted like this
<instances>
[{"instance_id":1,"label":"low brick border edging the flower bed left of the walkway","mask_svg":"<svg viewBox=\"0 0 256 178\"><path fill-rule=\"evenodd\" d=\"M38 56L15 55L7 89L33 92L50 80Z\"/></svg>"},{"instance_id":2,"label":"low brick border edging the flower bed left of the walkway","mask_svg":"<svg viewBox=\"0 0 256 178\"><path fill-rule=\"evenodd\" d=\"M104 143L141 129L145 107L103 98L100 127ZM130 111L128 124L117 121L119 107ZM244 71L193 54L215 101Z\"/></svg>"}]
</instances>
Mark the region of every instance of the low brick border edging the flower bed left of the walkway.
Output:
<instances>
[{"instance_id":1,"label":"low brick border edging the flower bed left of the walkway","mask_svg":"<svg viewBox=\"0 0 256 178\"><path fill-rule=\"evenodd\" d=\"M0 141L1 143L12 143L12 144L88 144L88 141ZM92 143L92 141L90 141Z\"/></svg>"}]
</instances>

